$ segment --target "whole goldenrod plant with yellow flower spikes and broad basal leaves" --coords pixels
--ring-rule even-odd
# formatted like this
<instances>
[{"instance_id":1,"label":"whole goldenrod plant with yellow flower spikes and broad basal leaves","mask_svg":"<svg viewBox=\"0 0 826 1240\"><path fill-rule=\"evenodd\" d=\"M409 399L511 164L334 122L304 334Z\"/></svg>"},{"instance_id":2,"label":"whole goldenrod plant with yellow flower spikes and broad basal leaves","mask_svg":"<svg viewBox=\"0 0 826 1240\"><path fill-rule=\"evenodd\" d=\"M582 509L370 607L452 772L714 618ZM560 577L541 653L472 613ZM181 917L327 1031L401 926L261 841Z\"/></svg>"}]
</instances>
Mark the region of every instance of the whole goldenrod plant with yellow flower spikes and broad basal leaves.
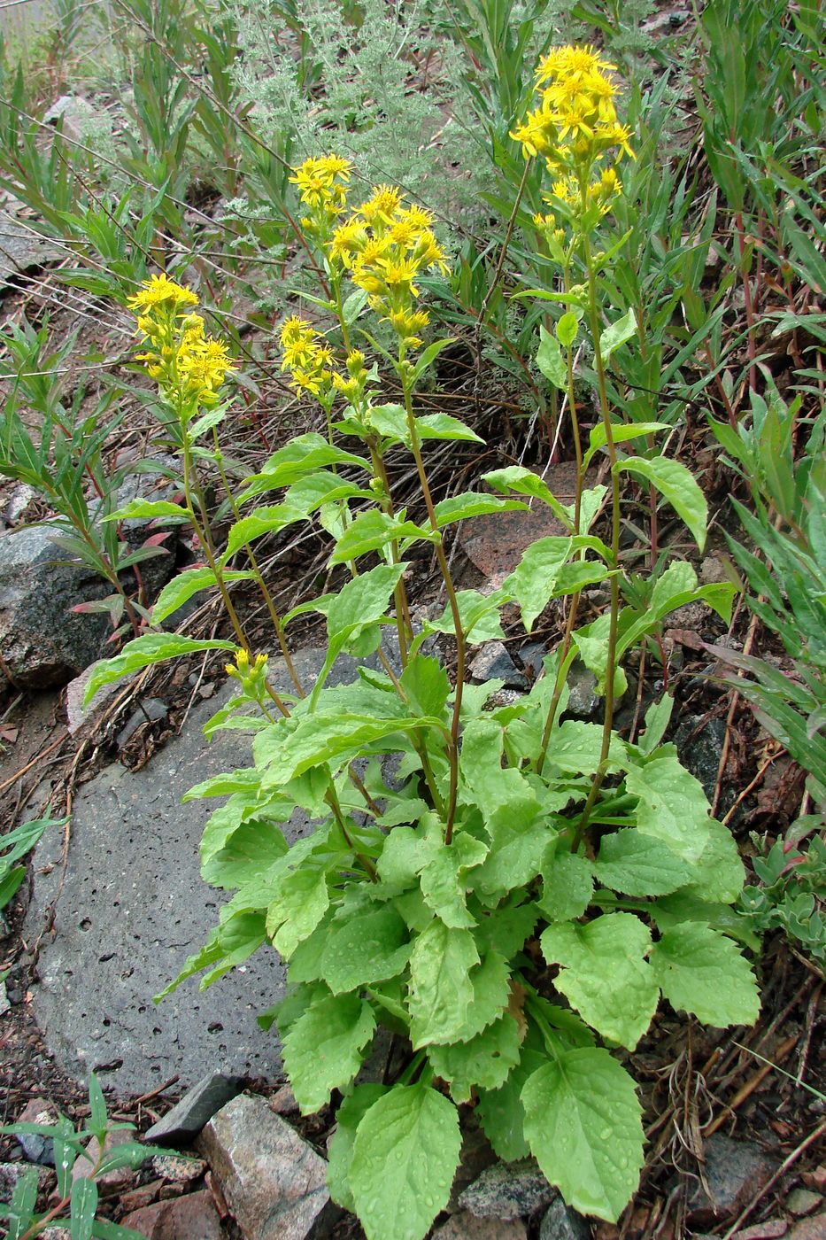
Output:
<instances>
[{"instance_id":1,"label":"whole goldenrod plant with yellow flower spikes and broad basal leaves","mask_svg":"<svg viewBox=\"0 0 826 1240\"><path fill-rule=\"evenodd\" d=\"M234 894L167 990L198 972L210 985L259 947L283 956L286 997L263 1019L278 1025L304 1114L341 1095L329 1184L370 1240L420 1240L445 1207L459 1162L460 1105L475 1106L500 1157L532 1153L571 1205L616 1219L644 1162L641 1106L624 1050L639 1044L661 998L718 1027L750 1024L758 1014L732 909L743 867L699 782L664 743L671 701L649 709L636 743L613 727L628 651L685 603L702 599L728 618L733 588L699 587L693 568L673 558L645 606L620 608L621 474L651 482L701 547L707 512L685 466L620 451L661 428L623 423L608 402L606 358L634 331L630 312L603 324L595 293L598 272L611 263L599 229L623 192L616 160L633 150L609 73L592 48L554 50L537 74L538 107L513 130L553 179L537 227L559 279L531 296L562 311L543 334L540 366L566 393L574 424L573 503L520 466L485 475L490 490L434 501L425 446L479 439L459 418L417 409L418 384L450 343L437 334L423 345L422 277L445 258L427 212L394 186L360 201L335 155L295 172L331 296L316 299L316 321L293 316L280 329L284 371L296 392L318 402L326 434L298 435L247 479L233 496L237 518L222 552L211 546L195 465L221 460L227 357L216 346L210 382L201 376L197 391L186 388L176 350L191 330L191 296L158 278L135 301L153 331L166 324L171 341L149 350L144 365L180 427L189 498L179 515L208 562L170 583L153 615L174 614L189 593L211 585L227 601L237 640L149 634L97 668L88 696L161 658L232 651L228 673L239 693L207 732L247 727L253 765L189 796L231 794L206 826L201 856L205 879ZM574 259L584 283L572 280ZM392 350L371 332L376 319ZM355 347L357 334L363 350ZM587 443L577 429L578 340L600 377ZM393 371L401 402L382 398L368 347ZM207 428L215 450L193 456ZM413 461L422 522L397 505L391 450ZM585 487L598 455L610 485ZM270 496L275 502L262 503ZM499 589L459 589L446 531L476 515L523 508L528 497L564 532L528 547ZM595 532L605 505L608 541ZM140 512L149 515L145 506ZM252 544L314 520L331 537L331 568L347 580L286 615L270 610L284 652L299 615L315 611L327 631L315 681L301 683L288 663L294 691L278 694L267 676L269 651L253 653L227 585L247 577L265 591ZM420 627L407 594L418 547L433 549L446 598L443 613ZM231 570L236 556L248 567ZM589 583L608 583L611 605L578 626L579 593ZM566 603L566 632L528 693L497 706L500 682L464 683L469 649L504 636L504 608L516 608L530 632L552 599ZM455 642L453 683L428 652L435 635ZM378 671L362 667L355 683L331 686L341 653L377 655ZM598 675L604 725L564 718L575 658ZM384 768L391 754L393 779ZM296 807L313 827L289 846L282 825ZM355 1084L380 1024L408 1047L403 1070L396 1080Z\"/></svg>"}]
</instances>

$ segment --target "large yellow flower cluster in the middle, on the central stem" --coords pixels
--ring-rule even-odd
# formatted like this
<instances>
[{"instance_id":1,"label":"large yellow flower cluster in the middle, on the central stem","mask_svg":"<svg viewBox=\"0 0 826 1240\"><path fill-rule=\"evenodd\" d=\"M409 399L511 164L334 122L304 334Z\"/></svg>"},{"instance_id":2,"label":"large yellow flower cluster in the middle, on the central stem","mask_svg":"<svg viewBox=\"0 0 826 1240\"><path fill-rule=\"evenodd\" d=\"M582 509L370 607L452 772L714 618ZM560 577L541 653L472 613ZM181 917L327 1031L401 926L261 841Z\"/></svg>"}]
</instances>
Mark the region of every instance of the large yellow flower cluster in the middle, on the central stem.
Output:
<instances>
[{"instance_id":1,"label":"large yellow flower cluster in the middle, on the central stem","mask_svg":"<svg viewBox=\"0 0 826 1240\"><path fill-rule=\"evenodd\" d=\"M428 315L415 310L415 278L430 267L448 270L432 231L433 216L406 206L398 190L380 185L332 234L330 259L349 269L370 305L408 347L422 343Z\"/></svg>"}]
</instances>

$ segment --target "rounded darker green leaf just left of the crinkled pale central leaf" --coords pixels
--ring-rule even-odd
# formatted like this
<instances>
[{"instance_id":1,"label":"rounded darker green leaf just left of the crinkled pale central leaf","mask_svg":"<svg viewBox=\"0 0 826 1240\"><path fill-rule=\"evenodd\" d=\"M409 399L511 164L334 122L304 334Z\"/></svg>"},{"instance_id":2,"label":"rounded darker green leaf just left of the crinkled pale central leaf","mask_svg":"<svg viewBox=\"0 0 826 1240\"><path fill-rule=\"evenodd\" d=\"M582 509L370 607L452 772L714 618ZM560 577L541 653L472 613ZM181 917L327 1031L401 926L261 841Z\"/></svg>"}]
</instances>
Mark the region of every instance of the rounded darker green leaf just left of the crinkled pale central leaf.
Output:
<instances>
[{"instance_id":1,"label":"rounded darker green leaf just left of the crinkled pale central leaf","mask_svg":"<svg viewBox=\"0 0 826 1240\"><path fill-rule=\"evenodd\" d=\"M334 921L325 940L319 976L334 994L396 977L411 955L407 926L389 906Z\"/></svg>"}]
</instances>

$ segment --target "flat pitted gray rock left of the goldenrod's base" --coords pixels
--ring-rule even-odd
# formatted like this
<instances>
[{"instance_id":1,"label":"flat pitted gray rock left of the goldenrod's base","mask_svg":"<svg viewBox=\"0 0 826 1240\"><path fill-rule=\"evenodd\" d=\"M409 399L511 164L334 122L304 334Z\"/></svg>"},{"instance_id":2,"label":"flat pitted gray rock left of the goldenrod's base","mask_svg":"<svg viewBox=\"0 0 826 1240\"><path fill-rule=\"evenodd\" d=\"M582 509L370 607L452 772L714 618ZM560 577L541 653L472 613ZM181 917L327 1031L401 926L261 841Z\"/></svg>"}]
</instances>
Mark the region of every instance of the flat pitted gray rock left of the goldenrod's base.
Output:
<instances>
[{"instance_id":1,"label":"flat pitted gray rock left of the goldenrod's base","mask_svg":"<svg viewBox=\"0 0 826 1240\"><path fill-rule=\"evenodd\" d=\"M301 651L294 661L313 683L322 653ZM332 681L350 683L355 667L340 660ZM275 687L286 689L280 660L272 671ZM202 733L231 693L226 684L192 711L184 733L143 770L115 764L81 789L63 882L62 833L47 832L37 848L29 941L53 901L56 908L55 936L45 934L41 942L35 1014L58 1065L78 1080L100 1070L118 1092L143 1094L174 1075L181 1087L210 1071L282 1075L275 1033L255 1021L284 992L284 967L270 947L203 992L192 977L153 1003L206 941L227 898L198 870L203 825L222 802L181 797L249 761L248 735L223 732L207 743ZM296 813L288 838L305 827L306 817Z\"/></svg>"}]
</instances>

